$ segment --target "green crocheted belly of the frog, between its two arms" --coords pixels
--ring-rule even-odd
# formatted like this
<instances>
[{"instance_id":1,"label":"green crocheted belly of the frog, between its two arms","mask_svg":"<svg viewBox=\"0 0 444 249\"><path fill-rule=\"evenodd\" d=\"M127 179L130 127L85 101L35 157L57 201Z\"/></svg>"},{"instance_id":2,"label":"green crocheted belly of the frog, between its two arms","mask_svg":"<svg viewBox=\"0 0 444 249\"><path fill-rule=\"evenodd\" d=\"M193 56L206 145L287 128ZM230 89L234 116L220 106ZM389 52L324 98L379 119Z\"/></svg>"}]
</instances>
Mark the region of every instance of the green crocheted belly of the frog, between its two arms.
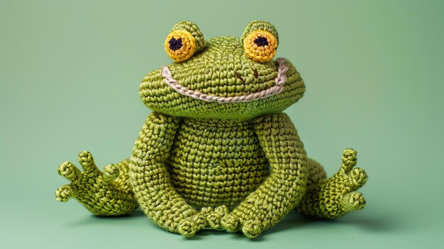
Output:
<instances>
[{"instance_id":1,"label":"green crocheted belly of the frog, between its two arms","mask_svg":"<svg viewBox=\"0 0 444 249\"><path fill-rule=\"evenodd\" d=\"M172 185L194 208L233 208L269 175L270 167L245 121L186 118L167 160Z\"/></svg>"}]
</instances>

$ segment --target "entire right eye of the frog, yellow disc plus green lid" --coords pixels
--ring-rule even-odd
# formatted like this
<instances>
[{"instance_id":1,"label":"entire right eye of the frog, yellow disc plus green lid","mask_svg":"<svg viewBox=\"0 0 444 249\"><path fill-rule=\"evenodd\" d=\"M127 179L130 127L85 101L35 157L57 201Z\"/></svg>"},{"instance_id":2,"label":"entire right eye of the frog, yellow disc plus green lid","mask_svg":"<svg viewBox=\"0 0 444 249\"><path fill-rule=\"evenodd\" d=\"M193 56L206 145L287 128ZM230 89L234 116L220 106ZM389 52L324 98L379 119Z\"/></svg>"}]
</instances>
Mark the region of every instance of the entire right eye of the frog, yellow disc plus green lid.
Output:
<instances>
[{"instance_id":1,"label":"entire right eye of the frog, yellow disc plus green lid","mask_svg":"<svg viewBox=\"0 0 444 249\"><path fill-rule=\"evenodd\" d=\"M279 42L277 31L266 21L251 21L243 31L241 40L245 55L255 62L272 60Z\"/></svg>"}]
</instances>

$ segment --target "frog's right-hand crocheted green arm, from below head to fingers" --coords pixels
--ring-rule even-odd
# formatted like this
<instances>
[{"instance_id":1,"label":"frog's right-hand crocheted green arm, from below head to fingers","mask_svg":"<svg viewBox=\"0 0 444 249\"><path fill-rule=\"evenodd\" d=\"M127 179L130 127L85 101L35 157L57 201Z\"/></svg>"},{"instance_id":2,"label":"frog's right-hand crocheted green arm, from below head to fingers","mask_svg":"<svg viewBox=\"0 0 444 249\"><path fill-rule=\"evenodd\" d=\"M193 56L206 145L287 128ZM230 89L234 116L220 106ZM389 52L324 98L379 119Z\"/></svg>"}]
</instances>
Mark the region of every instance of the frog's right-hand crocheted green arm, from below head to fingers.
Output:
<instances>
[{"instance_id":1,"label":"frog's right-hand crocheted green arm, from below head to fingers","mask_svg":"<svg viewBox=\"0 0 444 249\"><path fill-rule=\"evenodd\" d=\"M274 226L301 201L307 182L304 144L287 114L251 121L270 163L270 176L223 219L228 231L242 229L254 238Z\"/></svg>"}]
</instances>

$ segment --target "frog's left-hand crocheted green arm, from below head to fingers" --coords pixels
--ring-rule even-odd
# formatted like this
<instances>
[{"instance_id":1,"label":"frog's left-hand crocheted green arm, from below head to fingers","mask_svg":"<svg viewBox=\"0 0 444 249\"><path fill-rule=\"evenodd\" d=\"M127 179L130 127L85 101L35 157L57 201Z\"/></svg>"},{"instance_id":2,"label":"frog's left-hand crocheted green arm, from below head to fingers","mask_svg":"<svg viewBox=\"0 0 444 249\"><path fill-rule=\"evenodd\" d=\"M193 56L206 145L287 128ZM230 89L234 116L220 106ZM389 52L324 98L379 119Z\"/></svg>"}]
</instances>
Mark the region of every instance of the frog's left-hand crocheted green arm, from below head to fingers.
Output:
<instances>
[{"instance_id":1,"label":"frog's left-hand crocheted green arm, from below head to fingers","mask_svg":"<svg viewBox=\"0 0 444 249\"><path fill-rule=\"evenodd\" d=\"M158 226L184 236L195 231L179 224L197 213L174 190L165 161L170 156L180 119L152 112L135 141L130 163L130 182L140 208Z\"/></svg>"}]
</instances>

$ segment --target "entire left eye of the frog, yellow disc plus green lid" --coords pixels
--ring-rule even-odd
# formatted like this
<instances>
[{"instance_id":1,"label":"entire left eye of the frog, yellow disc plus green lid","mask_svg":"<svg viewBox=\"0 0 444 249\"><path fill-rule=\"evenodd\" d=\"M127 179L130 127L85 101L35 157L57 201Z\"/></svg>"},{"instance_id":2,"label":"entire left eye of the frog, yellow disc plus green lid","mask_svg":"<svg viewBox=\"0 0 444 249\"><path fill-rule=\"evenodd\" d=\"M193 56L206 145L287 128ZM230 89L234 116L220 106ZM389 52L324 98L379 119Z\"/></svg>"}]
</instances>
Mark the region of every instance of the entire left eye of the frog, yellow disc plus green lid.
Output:
<instances>
[{"instance_id":1,"label":"entire left eye of the frog, yellow disc plus green lid","mask_svg":"<svg viewBox=\"0 0 444 249\"><path fill-rule=\"evenodd\" d=\"M189 21L182 21L174 25L165 40L165 51L176 62L188 60L204 46L204 35L194 23Z\"/></svg>"}]
</instances>

